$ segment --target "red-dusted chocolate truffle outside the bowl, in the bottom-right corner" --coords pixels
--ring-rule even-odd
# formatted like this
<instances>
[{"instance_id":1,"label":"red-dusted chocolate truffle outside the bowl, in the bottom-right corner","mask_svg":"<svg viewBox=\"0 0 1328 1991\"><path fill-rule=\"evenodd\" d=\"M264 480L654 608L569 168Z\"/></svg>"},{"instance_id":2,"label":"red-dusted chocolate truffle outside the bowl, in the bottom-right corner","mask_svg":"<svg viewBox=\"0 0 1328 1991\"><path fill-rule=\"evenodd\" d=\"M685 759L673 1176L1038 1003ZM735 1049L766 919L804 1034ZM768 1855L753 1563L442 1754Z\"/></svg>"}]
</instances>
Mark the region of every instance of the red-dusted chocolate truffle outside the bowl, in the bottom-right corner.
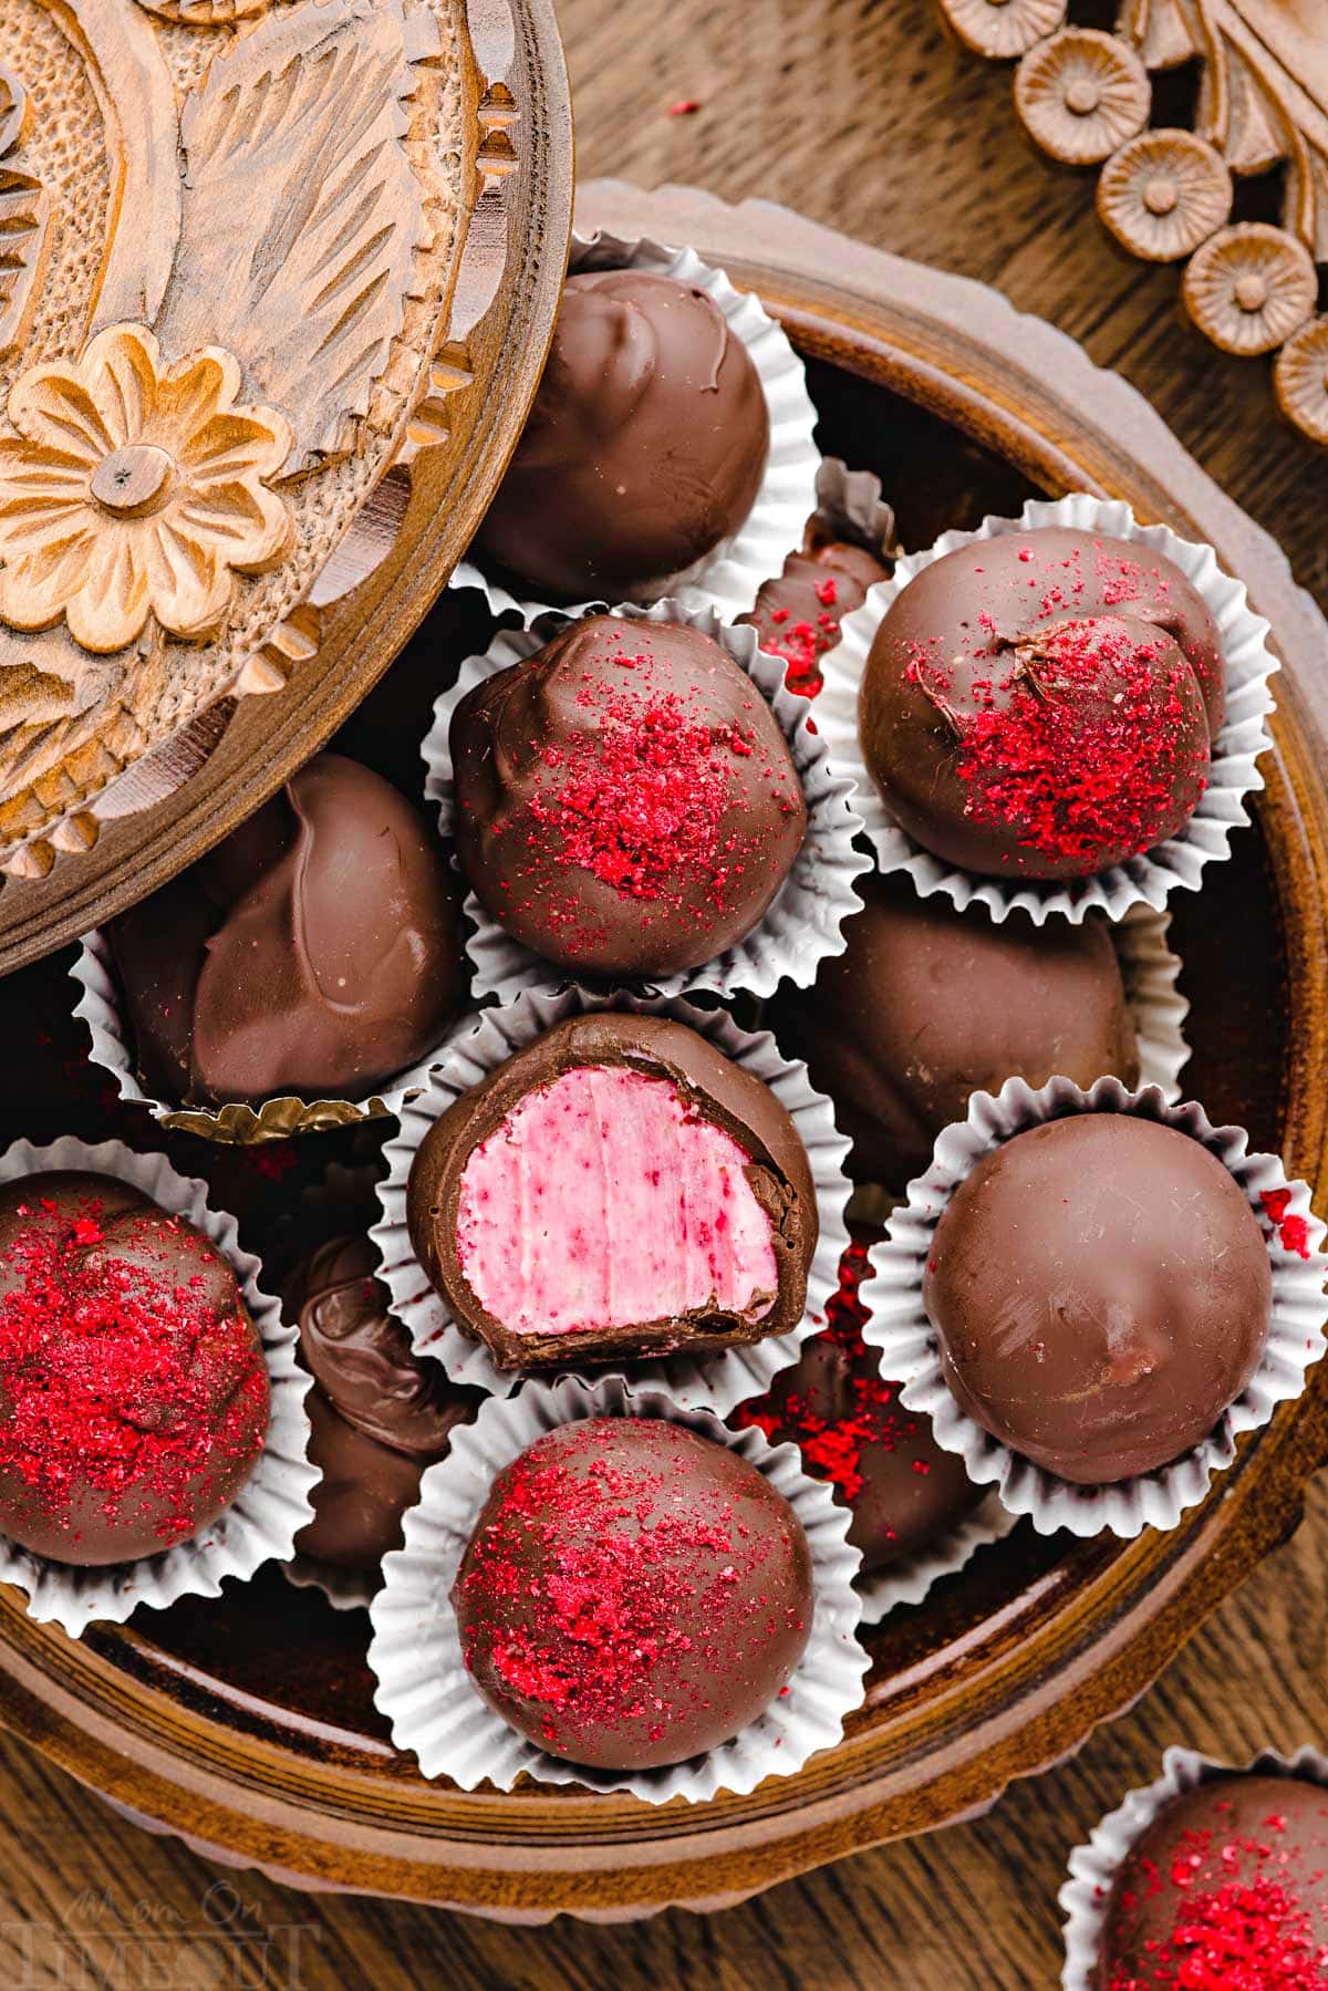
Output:
<instances>
[{"instance_id":1,"label":"red-dusted chocolate truffle outside the bowl, in the bottom-right corner","mask_svg":"<svg viewBox=\"0 0 1328 1991\"><path fill-rule=\"evenodd\" d=\"M1328 1790L1217 1776L1145 1826L1107 1901L1095 1991L1328 1985Z\"/></svg>"}]
</instances>

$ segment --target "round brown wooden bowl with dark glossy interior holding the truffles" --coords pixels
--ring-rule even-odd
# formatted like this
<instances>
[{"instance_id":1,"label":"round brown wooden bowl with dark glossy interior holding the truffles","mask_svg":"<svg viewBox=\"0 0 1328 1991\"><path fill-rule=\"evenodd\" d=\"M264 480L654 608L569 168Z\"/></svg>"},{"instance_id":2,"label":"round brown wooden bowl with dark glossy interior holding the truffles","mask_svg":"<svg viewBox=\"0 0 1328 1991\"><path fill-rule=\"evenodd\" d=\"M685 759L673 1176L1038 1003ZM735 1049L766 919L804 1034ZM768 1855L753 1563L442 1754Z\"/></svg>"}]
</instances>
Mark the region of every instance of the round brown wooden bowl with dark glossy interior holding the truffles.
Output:
<instances>
[{"instance_id":1,"label":"round brown wooden bowl with dark glossy interior holding the truffles","mask_svg":"<svg viewBox=\"0 0 1328 1991\"><path fill-rule=\"evenodd\" d=\"M759 289L808 358L822 444L882 476L904 544L1031 492L1087 488L1213 542L1248 581L1284 663L1276 753L1256 828L1213 866L1203 896L1179 894L1173 908L1193 1003L1187 1085L1322 1189L1328 629L1272 542L1131 388L990 291L761 203L727 209L683 189L591 185L579 223L695 243ZM452 607L436 611L424 645L454 627ZM28 1013L42 976L54 970L18 978ZM54 980L40 988L62 1001ZM10 1021L0 1013L0 1029ZM0 1131L38 1131L40 1083L2 1109ZM717 1907L982 1810L1077 1748L1286 1537L1326 1455L1320 1368L1175 1531L1075 1543L1023 1523L866 1635L866 1704L840 1746L741 1800L657 1810L577 1790L428 1784L372 1708L362 1613L334 1613L275 1569L82 1643L0 1593L0 1716L141 1822L301 1885L520 1921Z\"/></svg>"}]
</instances>

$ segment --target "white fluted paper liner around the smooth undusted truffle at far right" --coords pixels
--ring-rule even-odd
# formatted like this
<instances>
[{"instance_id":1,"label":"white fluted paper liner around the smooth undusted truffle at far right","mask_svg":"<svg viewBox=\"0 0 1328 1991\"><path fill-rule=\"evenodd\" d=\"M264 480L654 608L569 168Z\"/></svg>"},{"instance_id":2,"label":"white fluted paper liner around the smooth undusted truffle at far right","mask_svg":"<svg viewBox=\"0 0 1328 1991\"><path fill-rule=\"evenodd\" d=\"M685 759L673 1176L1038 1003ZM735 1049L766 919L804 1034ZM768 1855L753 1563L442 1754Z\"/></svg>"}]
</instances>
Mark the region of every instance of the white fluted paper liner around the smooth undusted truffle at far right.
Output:
<instances>
[{"instance_id":1,"label":"white fluted paper liner around the smooth undusted truffle at far right","mask_svg":"<svg viewBox=\"0 0 1328 1991\"><path fill-rule=\"evenodd\" d=\"M960 1183L978 1161L1005 1141L1043 1121L1069 1113L1133 1113L1175 1127L1217 1155L1246 1197L1272 1260L1272 1324L1250 1382L1218 1418L1211 1436L1171 1465L1115 1485L1071 1485L1019 1457L964 1416L942 1376L936 1332L922 1304L922 1274L936 1224ZM1290 1189L1288 1215L1308 1224L1310 1258L1298 1258L1270 1236L1262 1191ZM1099 1079L1083 1093L1069 1079L1049 1079L1033 1091L1007 1079L1001 1091L974 1093L968 1119L946 1127L936 1141L932 1167L908 1187L908 1201L890 1218L886 1238L872 1248L872 1278L862 1282L870 1310L864 1340L880 1348L882 1374L904 1384L908 1410L932 1418L936 1441L958 1451L970 1479L996 1485L1011 1513L1027 1513L1041 1535L1057 1527L1073 1535L1139 1535L1145 1527L1175 1527L1187 1507L1209 1491L1209 1479L1236 1455L1236 1438L1268 1424L1278 1404L1304 1390L1310 1364L1324 1354L1324 1224L1310 1211L1306 1183L1288 1183L1276 1155L1250 1155L1240 1127L1213 1127L1193 1101L1167 1105L1161 1089L1127 1091L1119 1079Z\"/></svg>"}]
</instances>

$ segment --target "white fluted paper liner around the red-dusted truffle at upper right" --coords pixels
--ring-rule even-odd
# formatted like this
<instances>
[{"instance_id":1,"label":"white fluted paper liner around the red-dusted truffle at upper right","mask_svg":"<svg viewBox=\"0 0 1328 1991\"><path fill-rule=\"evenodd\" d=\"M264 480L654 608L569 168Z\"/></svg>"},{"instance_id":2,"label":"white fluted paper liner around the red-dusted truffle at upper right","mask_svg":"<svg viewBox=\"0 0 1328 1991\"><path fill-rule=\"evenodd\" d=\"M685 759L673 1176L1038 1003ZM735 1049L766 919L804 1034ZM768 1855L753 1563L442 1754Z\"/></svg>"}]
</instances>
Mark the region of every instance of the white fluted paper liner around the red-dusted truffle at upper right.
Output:
<instances>
[{"instance_id":1,"label":"white fluted paper liner around the red-dusted truffle at upper right","mask_svg":"<svg viewBox=\"0 0 1328 1991\"><path fill-rule=\"evenodd\" d=\"M1226 719L1213 743L1213 771L1195 814L1155 850L1069 884L1055 878L980 878L932 856L896 824L876 792L858 743L862 671L876 629L900 589L958 546L1025 534L1037 526L1073 526L1165 553L1213 611L1226 663ZM1272 747L1268 715L1274 701L1268 681L1276 669L1280 665L1268 649L1268 623L1250 609L1244 581L1222 573L1211 546L1179 540L1167 526L1139 526L1131 508L1119 500L1075 492L1053 504L1029 500L1019 518L986 518L978 532L948 532L926 553L900 559L892 579L872 587L862 607L844 617L838 645L822 657L824 687L816 699L816 725L832 761L858 784L854 806L862 814L880 870L906 870L924 898L944 892L960 910L980 900L994 920L1003 920L1011 906L1021 906L1039 926L1051 914L1077 922L1093 908L1119 920L1139 900L1161 910L1171 892L1197 890L1205 864L1230 854L1230 832L1250 820L1248 798L1264 784L1256 761Z\"/></svg>"}]
</instances>

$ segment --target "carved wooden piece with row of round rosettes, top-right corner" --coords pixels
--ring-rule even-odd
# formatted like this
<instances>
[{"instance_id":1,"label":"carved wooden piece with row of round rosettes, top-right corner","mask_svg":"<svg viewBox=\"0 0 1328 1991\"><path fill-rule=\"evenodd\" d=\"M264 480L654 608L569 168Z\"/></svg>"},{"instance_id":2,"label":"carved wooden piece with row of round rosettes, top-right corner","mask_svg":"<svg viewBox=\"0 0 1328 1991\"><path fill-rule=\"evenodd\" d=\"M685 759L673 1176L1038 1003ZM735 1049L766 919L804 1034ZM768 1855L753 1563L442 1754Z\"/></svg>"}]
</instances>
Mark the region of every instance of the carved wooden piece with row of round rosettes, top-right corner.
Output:
<instances>
[{"instance_id":1,"label":"carved wooden piece with row of round rosettes, top-right corner","mask_svg":"<svg viewBox=\"0 0 1328 1991\"><path fill-rule=\"evenodd\" d=\"M1316 265L1328 261L1328 14L1316 0L1121 0L1115 34L1067 0L940 0L966 48L1019 58L1015 108L1067 165L1101 165L1097 213L1133 255L1191 257L1185 305L1224 352L1284 348L1284 414L1328 442ZM1197 129L1149 129L1149 72L1203 66ZM1232 175L1284 171L1282 227L1236 223Z\"/></svg>"}]
</instances>

